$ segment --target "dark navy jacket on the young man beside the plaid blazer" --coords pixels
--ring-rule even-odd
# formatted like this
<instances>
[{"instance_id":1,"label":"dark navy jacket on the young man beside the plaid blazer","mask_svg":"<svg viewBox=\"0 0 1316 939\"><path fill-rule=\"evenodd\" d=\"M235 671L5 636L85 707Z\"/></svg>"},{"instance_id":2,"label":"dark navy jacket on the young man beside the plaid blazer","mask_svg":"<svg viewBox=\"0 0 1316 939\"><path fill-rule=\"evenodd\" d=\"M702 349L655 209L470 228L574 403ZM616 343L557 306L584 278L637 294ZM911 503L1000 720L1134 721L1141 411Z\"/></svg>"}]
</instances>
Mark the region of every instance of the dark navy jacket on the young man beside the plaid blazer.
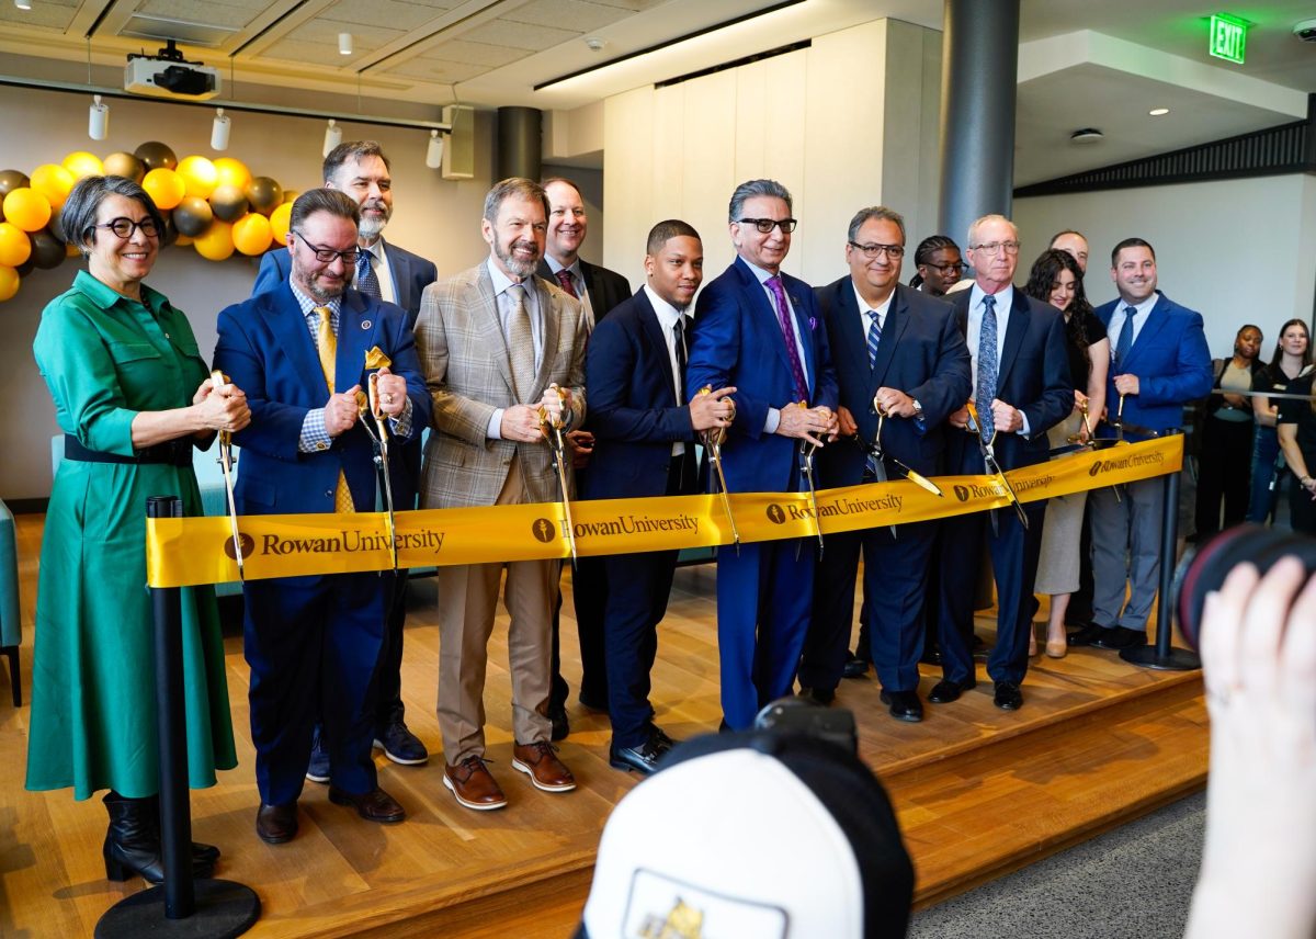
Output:
<instances>
[{"instance_id":1,"label":"dark navy jacket on the young man beside the plaid blazer","mask_svg":"<svg viewBox=\"0 0 1316 939\"><path fill-rule=\"evenodd\" d=\"M595 436L584 498L665 495L678 440L686 441L694 468L690 407L676 396L667 338L644 288L599 320L586 352L584 386Z\"/></svg>"}]
</instances>

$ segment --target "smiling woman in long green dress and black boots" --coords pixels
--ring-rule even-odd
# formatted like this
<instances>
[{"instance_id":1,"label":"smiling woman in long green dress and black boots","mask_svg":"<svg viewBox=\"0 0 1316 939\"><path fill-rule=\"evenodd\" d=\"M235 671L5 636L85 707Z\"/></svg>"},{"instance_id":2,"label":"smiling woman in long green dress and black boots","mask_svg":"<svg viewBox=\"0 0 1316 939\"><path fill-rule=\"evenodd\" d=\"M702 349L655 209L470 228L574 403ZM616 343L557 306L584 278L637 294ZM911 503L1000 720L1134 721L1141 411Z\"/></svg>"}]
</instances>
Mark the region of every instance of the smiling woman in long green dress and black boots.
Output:
<instances>
[{"instance_id":1,"label":"smiling woman in long green dress and black boots","mask_svg":"<svg viewBox=\"0 0 1316 939\"><path fill-rule=\"evenodd\" d=\"M105 876L163 878L146 499L201 514L192 448L250 421L246 396L213 387L182 312L142 283L164 221L137 183L88 176L64 203L87 257L41 316L33 352L64 431L41 547L28 789L109 789ZM188 777L237 764L224 644L211 587L183 591ZM193 845L209 876L218 849Z\"/></svg>"}]
</instances>

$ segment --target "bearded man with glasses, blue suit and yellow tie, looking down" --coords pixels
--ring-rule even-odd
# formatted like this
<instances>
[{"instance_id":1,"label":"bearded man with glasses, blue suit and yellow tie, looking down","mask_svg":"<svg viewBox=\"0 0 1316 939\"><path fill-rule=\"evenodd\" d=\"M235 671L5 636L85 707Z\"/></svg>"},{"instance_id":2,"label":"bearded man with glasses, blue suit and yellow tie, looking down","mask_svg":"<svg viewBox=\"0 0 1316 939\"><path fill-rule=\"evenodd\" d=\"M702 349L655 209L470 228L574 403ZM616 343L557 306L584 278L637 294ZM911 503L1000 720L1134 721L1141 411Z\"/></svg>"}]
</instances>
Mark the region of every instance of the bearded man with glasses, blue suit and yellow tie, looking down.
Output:
<instances>
[{"instance_id":1,"label":"bearded man with glasses, blue suit and yellow tie, looking down","mask_svg":"<svg viewBox=\"0 0 1316 939\"><path fill-rule=\"evenodd\" d=\"M404 312L349 287L358 217L357 203L342 192L304 192L292 207L290 281L220 313L216 367L251 389L253 423L234 435L242 448L236 489L242 515L374 510L374 452L357 408L367 366L378 370L380 408L397 440L429 423L430 399ZM317 718L330 801L374 822L405 815L379 788L371 759L372 676L391 587L391 573L243 585L257 834L270 844L296 834Z\"/></svg>"}]
</instances>

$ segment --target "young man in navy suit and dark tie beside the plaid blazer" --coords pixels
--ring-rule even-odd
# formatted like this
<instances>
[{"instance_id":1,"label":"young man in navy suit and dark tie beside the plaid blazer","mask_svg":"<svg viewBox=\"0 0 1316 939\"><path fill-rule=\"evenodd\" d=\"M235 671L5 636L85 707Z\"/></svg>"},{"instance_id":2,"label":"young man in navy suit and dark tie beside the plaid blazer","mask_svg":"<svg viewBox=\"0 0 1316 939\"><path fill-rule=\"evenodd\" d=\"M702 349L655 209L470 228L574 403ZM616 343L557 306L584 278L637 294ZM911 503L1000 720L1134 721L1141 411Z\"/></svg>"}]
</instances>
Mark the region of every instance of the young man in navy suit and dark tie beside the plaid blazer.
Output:
<instances>
[{"instance_id":1,"label":"young man in navy suit and dark tie beside the plaid blazer","mask_svg":"<svg viewBox=\"0 0 1316 939\"><path fill-rule=\"evenodd\" d=\"M734 389L684 404L686 309L704 279L699 233L683 221L649 232L645 286L595 327L584 361L595 449L587 499L691 495L697 489L695 435L730 425L721 400ZM608 759L619 769L651 773L671 749L653 722L649 673L658 623L667 611L675 550L608 554L601 560L607 604Z\"/></svg>"}]
</instances>

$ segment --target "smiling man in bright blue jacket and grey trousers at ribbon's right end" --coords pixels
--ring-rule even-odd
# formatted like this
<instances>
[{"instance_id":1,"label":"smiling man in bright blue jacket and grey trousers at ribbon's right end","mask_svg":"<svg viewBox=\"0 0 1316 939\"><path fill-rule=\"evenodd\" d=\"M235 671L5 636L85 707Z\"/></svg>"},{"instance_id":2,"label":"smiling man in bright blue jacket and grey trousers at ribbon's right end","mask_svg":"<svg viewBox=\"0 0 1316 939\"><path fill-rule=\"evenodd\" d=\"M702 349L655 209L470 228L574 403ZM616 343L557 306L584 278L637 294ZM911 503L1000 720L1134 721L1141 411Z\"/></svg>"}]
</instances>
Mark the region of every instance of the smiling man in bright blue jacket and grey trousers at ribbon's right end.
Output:
<instances>
[{"instance_id":1,"label":"smiling man in bright blue jacket and grey trousers at ribbon's right end","mask_svg":"<svg viewBox=\"0 0 1316 939\"><path fill-rule=\"evenodd\" d=\"M1117 402L1123 402L1124 420L1138 428L1182 427L1184 403L1211 390L1202 315L1157 290L1155 252L1142 238L1115 246L1111 279L1120 299L1096 311L1112 341L1107 412L1119 411ZM1125 431L1124 436L1140 440L1145 435ZM1088 496L1092 622L1070 637L1070 645L1126 649L1148 640L1148 615L1161 576L1165 477L1130 482L1124 491L1123 500L1113 489L1096 489Z\"/></svg>"}]
</instances>

